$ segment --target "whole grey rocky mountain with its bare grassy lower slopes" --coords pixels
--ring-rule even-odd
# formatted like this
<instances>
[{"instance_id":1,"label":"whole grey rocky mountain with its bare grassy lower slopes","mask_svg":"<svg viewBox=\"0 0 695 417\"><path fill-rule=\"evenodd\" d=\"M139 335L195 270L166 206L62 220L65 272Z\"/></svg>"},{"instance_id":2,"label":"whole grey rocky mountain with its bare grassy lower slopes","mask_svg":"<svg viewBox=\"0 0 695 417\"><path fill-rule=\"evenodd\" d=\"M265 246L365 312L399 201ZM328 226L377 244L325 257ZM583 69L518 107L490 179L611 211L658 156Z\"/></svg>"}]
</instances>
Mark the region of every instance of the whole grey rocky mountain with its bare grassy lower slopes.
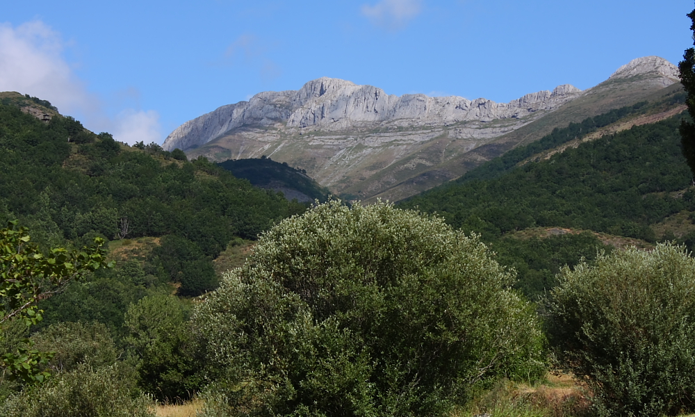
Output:
<instances>
[{"instance_id":1,"label":"whole grey rocky mountain with its bare grassy lower slopes","mask_svg":"<svg viewBox=\"0 0 695 417\"><path fill-rule=\"evenodd\" d=\"M213 161L265 154L306 170L333 193L400 200L460 177L555 127L680 88L678 68L655 56L620 67L588 90L560 85L509 103L387 95L322 78L300 90L261 92L190 120L164 149ZM670 90L669 90L670 91Z\"/></svg>"}]
</instances>

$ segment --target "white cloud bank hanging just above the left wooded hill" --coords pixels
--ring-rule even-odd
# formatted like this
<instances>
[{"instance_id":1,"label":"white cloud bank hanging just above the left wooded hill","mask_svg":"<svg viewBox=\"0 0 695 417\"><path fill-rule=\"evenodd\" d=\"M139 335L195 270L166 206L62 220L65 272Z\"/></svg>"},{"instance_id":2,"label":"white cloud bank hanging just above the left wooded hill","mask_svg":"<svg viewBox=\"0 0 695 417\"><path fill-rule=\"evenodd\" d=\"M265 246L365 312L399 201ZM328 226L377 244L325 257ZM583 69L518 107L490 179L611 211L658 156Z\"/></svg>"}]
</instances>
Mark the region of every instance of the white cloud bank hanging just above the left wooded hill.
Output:
<instances>
[{"instance_id":1,"label":"white cloud bank hanging just above the left wooded hill","mask_svg":"<svg viewBox=\"0 0 695 417\"><path fill-rule=\"evenodd\" d=\"M104 112L108 103L88 91L76 76L63 57L65 47L60 33L43 22L17 27L0 24L0 91L51 101L60 113L79 117L92 131L110 131L122 142L161 142L155 111L126 108L117 117L108 117ZM129 96L138 94L134 88L126 92Z\"/></svg>"}]
</instances>

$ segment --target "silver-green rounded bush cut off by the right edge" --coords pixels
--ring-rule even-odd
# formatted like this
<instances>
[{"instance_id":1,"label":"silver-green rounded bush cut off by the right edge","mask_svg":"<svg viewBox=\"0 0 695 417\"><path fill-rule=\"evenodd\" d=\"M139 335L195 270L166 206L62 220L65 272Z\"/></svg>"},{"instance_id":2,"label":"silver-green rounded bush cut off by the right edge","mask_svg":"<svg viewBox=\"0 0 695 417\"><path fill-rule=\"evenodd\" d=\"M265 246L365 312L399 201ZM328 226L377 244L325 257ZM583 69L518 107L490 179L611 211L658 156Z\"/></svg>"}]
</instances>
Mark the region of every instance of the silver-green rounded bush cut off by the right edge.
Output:
<instances>
[{"instance_id":1,"label":"silver-green rounded bush cut off by the right edge","mask_svg":"<svg viewBox=\"0 0 695 417\"><path fill-rule=\"evenodd\" d=\"M632 248L565 268L559 282L550 341L599 415L695 411L695 259L672 245Z\"/></svg>"}]
</instances>

